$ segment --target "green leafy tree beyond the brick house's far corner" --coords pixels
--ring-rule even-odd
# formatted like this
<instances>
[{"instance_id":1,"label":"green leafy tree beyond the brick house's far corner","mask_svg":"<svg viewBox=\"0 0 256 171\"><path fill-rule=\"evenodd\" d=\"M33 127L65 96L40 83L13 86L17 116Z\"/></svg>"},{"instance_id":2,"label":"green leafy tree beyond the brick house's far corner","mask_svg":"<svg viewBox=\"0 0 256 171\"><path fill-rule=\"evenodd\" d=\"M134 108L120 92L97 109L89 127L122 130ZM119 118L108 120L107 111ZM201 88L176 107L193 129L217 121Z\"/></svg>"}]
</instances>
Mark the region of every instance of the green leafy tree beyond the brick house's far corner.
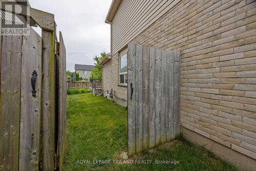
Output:
<instances>
[{"instance_id":1,"label":"green leafy tree beyond the brick house's far corner","mask_svg":"<svg viewBox=\"0 0 256 171\"><path fill-rule=\"evenodd\" d=\"M106 53L103 52L100 54L100 57L95 56L93 59L95 60L95 67L92 70L90 81L93 81L94 79L101 79L102 78L102 66L99 65L100 61L106 57Z\"/></svg>"}]
</instances>

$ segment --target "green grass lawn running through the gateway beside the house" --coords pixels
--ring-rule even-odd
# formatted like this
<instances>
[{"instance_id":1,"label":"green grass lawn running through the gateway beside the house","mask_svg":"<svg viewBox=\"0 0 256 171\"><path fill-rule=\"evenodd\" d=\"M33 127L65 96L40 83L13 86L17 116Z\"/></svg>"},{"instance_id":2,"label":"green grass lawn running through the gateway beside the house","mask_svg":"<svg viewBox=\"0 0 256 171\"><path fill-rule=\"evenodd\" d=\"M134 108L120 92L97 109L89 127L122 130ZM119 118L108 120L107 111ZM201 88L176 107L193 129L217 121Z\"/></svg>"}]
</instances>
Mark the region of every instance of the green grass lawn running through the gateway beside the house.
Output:
<instances>
[{"instance_id":1,"label":"green grass lawn running through the gateway beside the house","mask_svg":"<svg viewBox=\"0 0 256 171\"><path fill-rule=\"evenodd\" d=\"M129 161L167 160L179 164L102 164L96 160L120 159L127 145L127 110L104 97L68 96L68 132L64 170L238 170L205 148L182 136ZM87 160L91 164L80 164Z\"/></svg>"}]
</instances>

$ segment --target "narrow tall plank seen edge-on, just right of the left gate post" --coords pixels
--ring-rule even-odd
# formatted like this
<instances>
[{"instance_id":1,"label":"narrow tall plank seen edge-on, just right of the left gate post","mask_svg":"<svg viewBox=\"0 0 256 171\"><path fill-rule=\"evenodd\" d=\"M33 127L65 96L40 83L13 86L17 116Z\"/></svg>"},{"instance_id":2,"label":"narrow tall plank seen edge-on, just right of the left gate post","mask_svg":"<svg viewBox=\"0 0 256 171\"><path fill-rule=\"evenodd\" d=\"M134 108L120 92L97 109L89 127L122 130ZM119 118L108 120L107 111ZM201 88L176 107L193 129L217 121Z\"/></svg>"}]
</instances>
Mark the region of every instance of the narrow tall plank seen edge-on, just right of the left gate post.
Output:
<instances>
[{"instance_id":1,"label":"narrow tall plank seen edge-on, just right of the left gate post","mask_svg":"<svg viewBox=\"0 0 256 171\"><path fill-rule=\"evenodd\" d=\"M58 149L57 163L59 170L62 170L62 164L66 145L66 122L67 122L67 84L66 84L66 47L61 32L59 32L59 130L58 130Z\"/></svg>"}]
</instances>

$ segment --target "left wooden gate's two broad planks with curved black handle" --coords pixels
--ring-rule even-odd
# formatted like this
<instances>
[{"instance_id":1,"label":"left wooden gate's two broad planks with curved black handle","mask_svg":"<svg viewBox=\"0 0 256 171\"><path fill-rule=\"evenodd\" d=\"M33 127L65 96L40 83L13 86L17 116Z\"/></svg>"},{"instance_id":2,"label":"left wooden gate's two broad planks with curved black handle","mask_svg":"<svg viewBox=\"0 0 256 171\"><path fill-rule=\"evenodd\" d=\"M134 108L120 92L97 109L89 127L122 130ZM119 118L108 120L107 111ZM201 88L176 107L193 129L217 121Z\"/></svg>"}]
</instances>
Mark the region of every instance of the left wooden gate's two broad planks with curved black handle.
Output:
<instances>
[{"instance_id":1,"label":"left wooden gate's two broad planks with curved black handle","mask_svg":"<svg viewBox=\"0 0 256 171\"><path fill-rule=\"evenodd\" d=\"M26 170L38 164L41 50L42 39L33 29L30 36L2 36L0 165L4 169L18 170L20 163L20 170Z\"/></svg>"}]
</instances>

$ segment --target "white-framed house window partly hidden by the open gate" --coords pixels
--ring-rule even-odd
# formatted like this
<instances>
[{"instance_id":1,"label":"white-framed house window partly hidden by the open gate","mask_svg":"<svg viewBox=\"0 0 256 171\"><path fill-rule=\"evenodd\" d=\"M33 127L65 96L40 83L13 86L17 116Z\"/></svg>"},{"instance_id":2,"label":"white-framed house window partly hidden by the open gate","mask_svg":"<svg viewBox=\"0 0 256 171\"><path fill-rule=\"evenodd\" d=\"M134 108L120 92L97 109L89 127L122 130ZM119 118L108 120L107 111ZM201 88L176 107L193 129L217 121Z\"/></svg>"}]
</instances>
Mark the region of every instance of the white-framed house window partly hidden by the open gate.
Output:
<instances>
[{"instance_id":1,"label":"white-framed house window partly hidden by the open gate","mask_svg":"<svg viewBox=\"0 0 256 171\"><path fill-rule=\"evenodd\" d=\"M119 58L119 83L127 85L127 53L124 53Z\"/></svg>"}]
</instances>

